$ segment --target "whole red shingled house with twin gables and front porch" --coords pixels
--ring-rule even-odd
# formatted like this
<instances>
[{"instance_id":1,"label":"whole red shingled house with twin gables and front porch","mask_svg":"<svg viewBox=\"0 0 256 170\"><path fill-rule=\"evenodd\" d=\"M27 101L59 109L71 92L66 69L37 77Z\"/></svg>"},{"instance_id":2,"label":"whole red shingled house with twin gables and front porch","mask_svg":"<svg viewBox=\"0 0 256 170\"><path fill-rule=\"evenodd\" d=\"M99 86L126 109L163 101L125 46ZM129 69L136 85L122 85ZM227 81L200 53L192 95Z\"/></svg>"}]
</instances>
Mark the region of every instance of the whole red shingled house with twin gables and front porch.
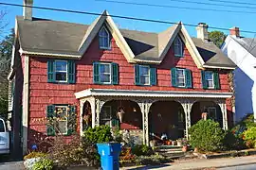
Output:
<instances>
[{"instance_id":1,"label":"whole red shingled house with twin gables and front porch","mask_svg":"<svg viewBox=\"0 0 256 170\"><path fill-rule=\"evenodd\" d=\"M54 135L38 120L63 108L76 112L78 125L60 122L66 138L82 133L84 115L92 127L129 129L143 144L153 133L188 136L205 110L224 129L231 125L228 74L235 65L209 41L206 24L192 38L182 23L159 33L120 29L106 11L91 25L33 18L28 7L24 13L16 18L9 74L24 152L36 133Z\"/></svg>"}]
</instances>

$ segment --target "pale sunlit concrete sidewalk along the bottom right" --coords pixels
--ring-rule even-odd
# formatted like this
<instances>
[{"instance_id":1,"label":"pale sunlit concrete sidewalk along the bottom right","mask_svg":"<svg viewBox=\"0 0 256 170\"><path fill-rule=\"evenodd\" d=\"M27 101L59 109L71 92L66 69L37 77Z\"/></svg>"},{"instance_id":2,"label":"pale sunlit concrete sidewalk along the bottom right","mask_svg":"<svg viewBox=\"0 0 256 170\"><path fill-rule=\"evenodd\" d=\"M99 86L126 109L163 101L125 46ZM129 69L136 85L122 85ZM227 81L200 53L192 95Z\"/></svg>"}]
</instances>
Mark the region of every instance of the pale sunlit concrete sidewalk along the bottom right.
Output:
<instances>
[{"instance_id":1,"label":"pale sunlit concrete sidewalk along the bottom right","mask_svg":"<svg viewBox=\"0 0 256 170\"><path fill-rule=\"evenodd\" d=\"M173 163L167 163L159 166L140 166L140 167L129 167L121 168L121 170L134 170L134 169L155 169L155 170L179 170L179 169L202 169L210 167L229 167L229 166L238 166L243 164L252 164L256 163L256 156L247 156L247 157L236 157L236 158L223 158L223 159L193 159L186 161L175 161Z\"/></svg>"}]
</instances>

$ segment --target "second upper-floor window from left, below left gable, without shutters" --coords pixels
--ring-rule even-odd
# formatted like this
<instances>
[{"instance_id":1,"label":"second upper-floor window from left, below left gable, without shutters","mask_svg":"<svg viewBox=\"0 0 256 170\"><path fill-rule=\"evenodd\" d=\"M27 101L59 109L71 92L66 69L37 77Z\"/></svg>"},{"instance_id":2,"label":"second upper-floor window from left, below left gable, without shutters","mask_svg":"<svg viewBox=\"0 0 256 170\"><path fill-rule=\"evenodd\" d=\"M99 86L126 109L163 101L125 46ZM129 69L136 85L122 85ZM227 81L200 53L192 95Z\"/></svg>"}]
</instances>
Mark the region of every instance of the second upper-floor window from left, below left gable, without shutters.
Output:
<instances>
[{"instance_id":1,"label":"second upper-floor window from left, below left gable, without shutters","mask_svg":"<svg viewBox=\"0 0 256 170\"><path fill-rule=\"evenodd\" d=\"M101 63L100 65L100 81L102 83L111 83L111 64Z\"/></svg>"}]
</instances>

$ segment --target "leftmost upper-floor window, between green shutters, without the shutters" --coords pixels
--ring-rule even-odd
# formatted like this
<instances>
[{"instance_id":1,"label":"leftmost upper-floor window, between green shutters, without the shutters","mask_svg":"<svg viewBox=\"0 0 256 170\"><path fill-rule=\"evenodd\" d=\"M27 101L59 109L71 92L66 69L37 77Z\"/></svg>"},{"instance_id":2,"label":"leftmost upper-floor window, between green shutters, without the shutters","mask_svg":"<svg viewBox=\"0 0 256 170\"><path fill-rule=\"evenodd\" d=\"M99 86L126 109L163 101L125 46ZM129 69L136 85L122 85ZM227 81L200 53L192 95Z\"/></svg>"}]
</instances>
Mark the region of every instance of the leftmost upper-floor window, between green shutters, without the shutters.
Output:
<instances>
[{"instance_id":1,"label":"leftmost upper-floor window, between green shutters, without the shutters","mask_svg":"<svg viewBox=\"0 0 256 170\"><path fill-rule=\"evenodd\" d=\"M67 61L66 60L55 61L55 78L57 82L67 81Z\"/></svg>"}]
</instances>

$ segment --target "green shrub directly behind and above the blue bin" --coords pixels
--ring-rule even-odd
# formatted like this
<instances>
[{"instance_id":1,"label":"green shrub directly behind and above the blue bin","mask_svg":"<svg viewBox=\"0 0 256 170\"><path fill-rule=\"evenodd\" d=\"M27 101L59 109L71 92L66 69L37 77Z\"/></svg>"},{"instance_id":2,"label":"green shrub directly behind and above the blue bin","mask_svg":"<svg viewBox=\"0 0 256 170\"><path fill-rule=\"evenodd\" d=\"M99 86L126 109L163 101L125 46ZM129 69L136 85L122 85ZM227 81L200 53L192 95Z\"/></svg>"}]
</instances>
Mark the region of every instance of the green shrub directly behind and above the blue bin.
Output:
<instances>
[{"instance_id":1,"label":"green shrub directly behind and above the blue bin","mask_svg":"<svg viewBox=\"0 0 256 170\"><path fill-rule=\"evenodd\" d=\"M91 144L108 143L113 141L111 129L108 126L94 128L89 127L83 131L83 138Z\"/></svg>"}]
</instances>

